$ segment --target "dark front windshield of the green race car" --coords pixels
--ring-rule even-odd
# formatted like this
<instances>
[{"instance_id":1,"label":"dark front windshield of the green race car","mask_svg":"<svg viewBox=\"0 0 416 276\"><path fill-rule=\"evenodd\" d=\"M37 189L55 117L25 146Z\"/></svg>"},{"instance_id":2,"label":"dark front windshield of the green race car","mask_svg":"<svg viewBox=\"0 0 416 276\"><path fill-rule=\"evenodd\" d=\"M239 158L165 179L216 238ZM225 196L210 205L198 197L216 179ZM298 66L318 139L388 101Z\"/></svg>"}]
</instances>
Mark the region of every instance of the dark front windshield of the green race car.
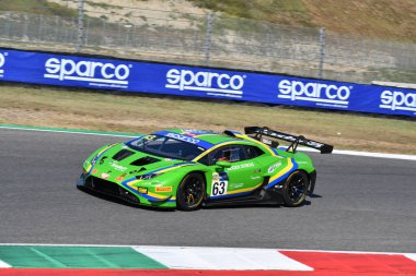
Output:
<instances>
[{"instance_id":1,"label":"dark front windshield of the green race car","mask_svg":"<svg viewBox=\"0 0 416 276\"><path fill-rule=\"evenodd\" d=\"M192 160L204 152L195 144L161 135L147 135L127 143L127 146L160 157Z\"/></svg>"}]
</instances>

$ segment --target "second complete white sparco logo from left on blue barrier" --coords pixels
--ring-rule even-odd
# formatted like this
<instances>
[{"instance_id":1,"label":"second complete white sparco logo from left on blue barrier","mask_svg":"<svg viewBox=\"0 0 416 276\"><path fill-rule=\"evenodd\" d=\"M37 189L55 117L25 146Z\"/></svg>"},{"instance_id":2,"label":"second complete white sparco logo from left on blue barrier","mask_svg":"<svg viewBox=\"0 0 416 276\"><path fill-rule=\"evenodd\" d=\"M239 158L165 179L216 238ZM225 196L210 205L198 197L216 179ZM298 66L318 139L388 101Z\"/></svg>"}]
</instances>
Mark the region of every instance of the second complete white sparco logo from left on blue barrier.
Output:
<instances>
[{"instance_id":1,"label":"second complete white sparco logo from left on blue barrier","mask_svg":"<svg viewBox=\"0 0 416 276\"><path fill-rule=\"evenodd\" d=\"M207 95L241 98L245 77L245 75L238 74L171 69L166 73L165 87L180 91L201 91L207 92Z\"/></svg>"}]
</instances>

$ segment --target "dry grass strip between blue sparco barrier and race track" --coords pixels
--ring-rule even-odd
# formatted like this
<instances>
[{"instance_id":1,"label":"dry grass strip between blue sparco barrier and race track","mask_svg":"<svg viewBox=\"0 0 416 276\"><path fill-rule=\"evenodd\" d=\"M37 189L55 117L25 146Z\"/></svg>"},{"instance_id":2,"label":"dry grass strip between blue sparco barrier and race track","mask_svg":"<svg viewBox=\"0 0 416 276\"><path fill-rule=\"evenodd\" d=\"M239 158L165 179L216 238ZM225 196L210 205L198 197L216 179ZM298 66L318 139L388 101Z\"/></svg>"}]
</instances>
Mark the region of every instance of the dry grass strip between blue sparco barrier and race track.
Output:
<instances>
[{"instance_id":1,"label":"dry grass strip between blue sparco barrier and race track","mask_svg":"<svg viewBox=\"0 0 416 276\"><path fill-rule=\"evenodd\" d=\"M0 123L134 133L267 125L338 149L416 154L414 119L42 86L0 86Z\"/></svg>"}]
</instances>

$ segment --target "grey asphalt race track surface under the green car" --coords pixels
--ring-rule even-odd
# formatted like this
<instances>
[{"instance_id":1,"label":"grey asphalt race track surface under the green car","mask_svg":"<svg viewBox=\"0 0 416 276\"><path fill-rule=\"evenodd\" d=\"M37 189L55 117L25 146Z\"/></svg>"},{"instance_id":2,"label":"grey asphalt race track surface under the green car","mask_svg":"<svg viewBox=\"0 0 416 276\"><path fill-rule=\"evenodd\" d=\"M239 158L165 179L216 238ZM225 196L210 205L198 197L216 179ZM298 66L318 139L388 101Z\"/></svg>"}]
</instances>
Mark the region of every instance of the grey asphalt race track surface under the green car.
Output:
<instances>
[{"instance_id":1,"label":"grey asphalt race track surface under the green car","mask_svg":"<svg viewBox=\"0 0 416 276\"><path fill-rule=\"evenodd\" d=\"M0 243L416 252L416 161L313 154L309 205L155 211L76 188L83 160L124 140L0 130Z\"/></svg>"}]
</instances>

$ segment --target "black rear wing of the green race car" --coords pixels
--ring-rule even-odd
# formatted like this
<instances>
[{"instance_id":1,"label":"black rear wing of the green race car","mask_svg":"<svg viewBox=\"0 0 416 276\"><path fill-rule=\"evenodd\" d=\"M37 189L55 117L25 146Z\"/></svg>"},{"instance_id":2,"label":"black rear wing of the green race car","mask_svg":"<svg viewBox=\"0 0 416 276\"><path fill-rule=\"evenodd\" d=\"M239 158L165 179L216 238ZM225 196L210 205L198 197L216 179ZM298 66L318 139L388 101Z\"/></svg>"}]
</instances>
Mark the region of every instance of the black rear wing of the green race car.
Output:
<instances>
[{"instance_id":1,"label":"black rear wing of the green race car","mask_svg":"<svg viewBox=\"0 0 416 276\"><path fill-rule=\"evenodd\" d=\"M286 149L287 152L290 152L290 153L296 153L298 145L315 148L315 149L320 151L321 154L331 154L333 148L334 148L334 146L328 145L328 144L312 141L312 140L305 139L304 136L294 136L292 134L287 134L284 132L270 130L267 127L263 127L263 128L245 127L244 133L245 134L255 134L253 136L255 140L261 141L261 142L263 142L263 143L265 143L271 147L277 147L279 145L279 143L276 141L270 141L270 140L264 139L263 136L268 136L268 137L274 137L277 140L284 140L284 141L290 142L291 144Z\"/></svg>"}]
</instances>

